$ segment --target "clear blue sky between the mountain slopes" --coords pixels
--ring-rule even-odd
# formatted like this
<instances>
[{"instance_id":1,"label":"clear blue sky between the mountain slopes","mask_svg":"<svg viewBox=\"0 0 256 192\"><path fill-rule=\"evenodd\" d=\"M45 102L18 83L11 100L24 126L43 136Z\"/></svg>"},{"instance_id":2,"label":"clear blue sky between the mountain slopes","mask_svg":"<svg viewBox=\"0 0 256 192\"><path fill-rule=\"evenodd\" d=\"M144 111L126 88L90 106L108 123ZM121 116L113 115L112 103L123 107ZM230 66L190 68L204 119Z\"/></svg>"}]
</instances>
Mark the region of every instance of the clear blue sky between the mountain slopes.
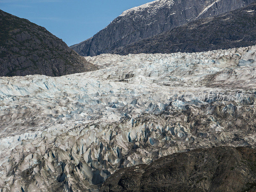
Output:
<instances>
[{"instance_id":1,"label":"clear blue sky between the mountain slopes","mask_svg":"<svg viewBox=\"0 0 256 192\"><path fill-rule=\"evenodd\" d=\"M70 46L92 37L123 11L151 1L0 0L0 9L45 27Z\"/></svg>"}]
</instances>

